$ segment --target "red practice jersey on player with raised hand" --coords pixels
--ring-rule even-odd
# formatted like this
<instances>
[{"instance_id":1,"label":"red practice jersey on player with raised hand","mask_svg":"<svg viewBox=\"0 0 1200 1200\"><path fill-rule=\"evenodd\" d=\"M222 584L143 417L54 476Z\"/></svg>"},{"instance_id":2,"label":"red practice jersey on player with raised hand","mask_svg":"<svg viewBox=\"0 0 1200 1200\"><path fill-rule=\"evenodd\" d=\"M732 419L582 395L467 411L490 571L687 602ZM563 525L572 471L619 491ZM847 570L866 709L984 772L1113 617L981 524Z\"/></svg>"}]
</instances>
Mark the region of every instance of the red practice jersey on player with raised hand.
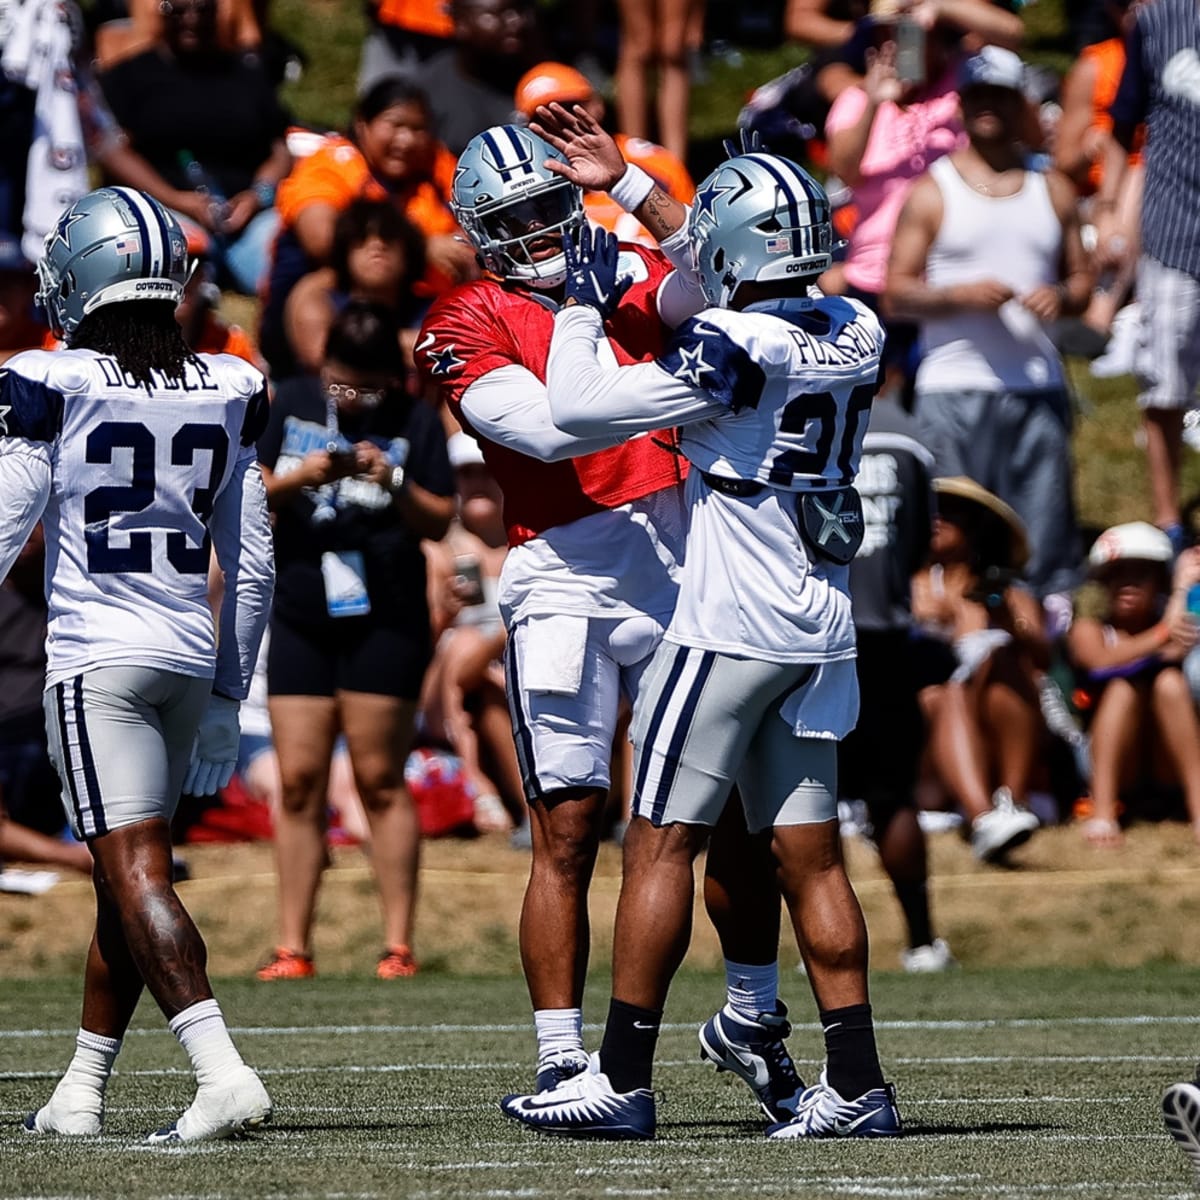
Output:
<instances>
[{"instance_id":1,"label":"red practice jersey on player with raised hand","mask_svg":"<svg viewBox=\"0 0 1200 1200\"><path fill-rule=\"evenodd\" d=\"M662 348L658 292L671 263L658 251L623 245L646 266L605 323L620 366L648 362ZM463 428L479 438L484 458L504 492L509 545L518 546L554 526L616 509L672 487L685 463L659 443L674 444L673 431L635 438L611 450L564 462L541 462L479 437L462 412L463 392L476 379L506 366L521 366L542 383L554 332L551 307L521 288L496 280L463 283L430 310L416 343L416 366L436 384Z\"/></svg>"}]
</instances>

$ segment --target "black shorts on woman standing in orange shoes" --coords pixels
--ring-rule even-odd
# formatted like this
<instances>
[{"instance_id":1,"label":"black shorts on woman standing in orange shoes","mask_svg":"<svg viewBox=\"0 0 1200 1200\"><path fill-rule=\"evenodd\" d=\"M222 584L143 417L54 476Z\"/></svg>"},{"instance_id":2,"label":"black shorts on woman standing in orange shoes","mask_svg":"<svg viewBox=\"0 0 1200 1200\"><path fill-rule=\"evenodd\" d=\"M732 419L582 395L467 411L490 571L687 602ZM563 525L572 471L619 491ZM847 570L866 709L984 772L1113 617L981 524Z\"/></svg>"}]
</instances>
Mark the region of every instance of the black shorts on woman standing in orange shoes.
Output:
<instances>
[{"instance_id":1,"label":"black shorts on woman standing in orange shoes","mask_svg":"<svg viewBox=\"0 0 1200 1200\"><path fill-rule=\"evenodd\" d=\"M325 625L271 619L266 691L271 696L334 696L364 691L416 700L432 650L427 625L401 629L346 617Z\"/></svg>"}]
</instances>

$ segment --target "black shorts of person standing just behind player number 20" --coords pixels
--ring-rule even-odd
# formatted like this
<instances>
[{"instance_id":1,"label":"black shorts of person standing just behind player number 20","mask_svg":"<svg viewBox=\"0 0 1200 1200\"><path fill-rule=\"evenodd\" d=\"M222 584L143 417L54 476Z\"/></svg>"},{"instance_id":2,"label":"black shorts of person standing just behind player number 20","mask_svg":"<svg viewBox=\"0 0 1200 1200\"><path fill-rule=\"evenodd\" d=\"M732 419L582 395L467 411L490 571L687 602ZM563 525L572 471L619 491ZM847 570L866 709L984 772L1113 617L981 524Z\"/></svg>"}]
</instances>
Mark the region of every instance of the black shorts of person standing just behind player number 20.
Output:
<instances>
[{"instance_id":1,"label":"black shorts of person standing just behind player number 20","mask_svg":"<svg viewBox=\"0 0 1200 1200\"><path fill-rule=\"evenodd\" d=\"M838 748L838 791L865 800L876 834L913 805L925 738L906 631L858 634L858 726Z\"/></svg>"}]
</instances>

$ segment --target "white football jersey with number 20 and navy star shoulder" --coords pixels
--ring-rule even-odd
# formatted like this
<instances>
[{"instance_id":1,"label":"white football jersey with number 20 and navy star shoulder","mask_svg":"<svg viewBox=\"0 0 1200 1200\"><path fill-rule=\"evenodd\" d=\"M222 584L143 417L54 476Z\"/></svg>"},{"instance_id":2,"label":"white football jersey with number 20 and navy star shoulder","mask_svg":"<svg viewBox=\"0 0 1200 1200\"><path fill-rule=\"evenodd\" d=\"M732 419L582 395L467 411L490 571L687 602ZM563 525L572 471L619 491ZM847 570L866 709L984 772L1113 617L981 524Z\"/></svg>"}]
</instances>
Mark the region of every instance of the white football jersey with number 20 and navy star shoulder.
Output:
<instances>
[{"instance_id":1,"label":"white football jersey with number 20 and navy star shoulder","mask_svg":"<svg viewBox=\"0 0 1200 1200\"><path fill-rule=\"evenodd\" d=\"M858 472L883 348L875 316L836 296L709 308L658 360L620 371L589 355L594 318L583 306L557 318L554 422L576 436L624 437L678 424L692 464L667 638L780 662L852 658L848 566L809 551L798 502ZM727 494L704 474L756 494Z\"/></svg>"}]
</instances>

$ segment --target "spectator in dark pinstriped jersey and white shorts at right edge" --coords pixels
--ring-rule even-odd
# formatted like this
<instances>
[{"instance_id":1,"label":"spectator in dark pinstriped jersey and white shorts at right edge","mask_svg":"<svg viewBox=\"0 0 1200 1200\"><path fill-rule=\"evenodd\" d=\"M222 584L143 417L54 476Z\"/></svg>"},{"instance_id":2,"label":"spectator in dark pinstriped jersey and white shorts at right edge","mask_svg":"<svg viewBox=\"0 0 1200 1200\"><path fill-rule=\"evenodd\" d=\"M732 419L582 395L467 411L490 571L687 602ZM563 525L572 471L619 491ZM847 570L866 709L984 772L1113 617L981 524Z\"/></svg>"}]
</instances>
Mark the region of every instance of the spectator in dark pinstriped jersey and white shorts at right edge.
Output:
<instances>
[{"instance_id":1,"label":"spectator in dark pinstriped jersey and white shorts at right edge","mask_svg":"<svg viewBox=\"0 0 1200 1200\"><path fill-rule=\"evenodd\" d=\"M1183 545L1180 455L1183 414L1200 380L1200 22L1193 0L1154 0L1134 16L1112 102L1100 210L1115 210L1138 126L1148 130L1141 211L1134 367L1146 431L1154 524ZM1102 244L1102 256L1105 247Z\"/></svg>"}]
</instances>

